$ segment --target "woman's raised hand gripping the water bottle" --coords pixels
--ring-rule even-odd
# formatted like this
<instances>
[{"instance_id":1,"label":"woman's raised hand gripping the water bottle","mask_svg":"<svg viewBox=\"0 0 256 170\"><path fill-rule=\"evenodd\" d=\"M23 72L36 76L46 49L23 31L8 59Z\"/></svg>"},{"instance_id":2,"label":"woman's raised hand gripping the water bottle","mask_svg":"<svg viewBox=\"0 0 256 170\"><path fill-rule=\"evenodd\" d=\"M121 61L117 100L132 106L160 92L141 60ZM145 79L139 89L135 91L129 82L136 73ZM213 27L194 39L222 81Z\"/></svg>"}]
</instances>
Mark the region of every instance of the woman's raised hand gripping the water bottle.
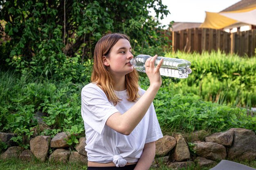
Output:
<instances>
[{"instance_id":1,"label":"woman's raised hand gripping the water bottle","mask_svg":"<svg viewBox=\"0 0 256 170\"><path fill-rule=\"evenodd\" d=\"M160 62L157 64L157 67L155 67L156 59L157 59L157 55L155 55L154 57L148 58L145 62L145 67L146 67L146 74L150 81L150 86L153 86L158 90L162 84L162 79L161 79L159 70L163 63L163 59L161 59Z\"/></svg>"}]
</instances>

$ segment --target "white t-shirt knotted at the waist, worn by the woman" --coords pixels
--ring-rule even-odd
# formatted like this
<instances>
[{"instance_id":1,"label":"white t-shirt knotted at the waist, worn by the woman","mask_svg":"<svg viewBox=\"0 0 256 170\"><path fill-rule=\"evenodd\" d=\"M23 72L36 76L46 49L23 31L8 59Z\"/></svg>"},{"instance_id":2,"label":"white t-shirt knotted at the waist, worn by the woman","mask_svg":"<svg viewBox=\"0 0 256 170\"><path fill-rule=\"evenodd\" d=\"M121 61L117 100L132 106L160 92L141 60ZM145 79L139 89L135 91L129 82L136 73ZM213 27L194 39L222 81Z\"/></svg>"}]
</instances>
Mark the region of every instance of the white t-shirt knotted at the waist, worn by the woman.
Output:
<instances>
[{"instance_id":1,"label":"white t-shirt knotted at the waist, worn by the woman","mask_svg":"<svg viewBox=\"0 0 256 170\"><path fill-rule=\"evenodd\" d=\"M144 144L163 137L153 103L146 115L130 133L122 135L106 125L107 119L114 113L125 113L135 102L127 101L128 92L115 91L122 99L116 106L108 100L106 94L94 83L83 87L81 92L81 114L85 126L88 161L108 163L113 161L117 167L126 162L139 160ZM139 88L139 95L145 91Z\"/></svg>"}]
</instances>

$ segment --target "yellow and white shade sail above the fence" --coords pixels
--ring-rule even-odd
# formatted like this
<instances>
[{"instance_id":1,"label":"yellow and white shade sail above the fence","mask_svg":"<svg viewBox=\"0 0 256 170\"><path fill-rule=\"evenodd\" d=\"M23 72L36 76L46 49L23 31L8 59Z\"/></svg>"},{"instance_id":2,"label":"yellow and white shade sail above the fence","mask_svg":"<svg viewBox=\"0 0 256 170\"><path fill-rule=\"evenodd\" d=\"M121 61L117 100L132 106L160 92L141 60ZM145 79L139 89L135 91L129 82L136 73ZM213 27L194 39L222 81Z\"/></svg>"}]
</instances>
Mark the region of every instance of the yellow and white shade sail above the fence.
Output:
<instances>
[{"instance_id":1,"label":"yellow and white shade sail above the fence","mask_svg":"<svg viewBox=\"0 0 256 170\"><path fill-rule=\"evenodd\" d=\"M206 12L201 28L222 29L236 22L256 25L256 4L235 11Z\"/></svg>"}]
</instances>

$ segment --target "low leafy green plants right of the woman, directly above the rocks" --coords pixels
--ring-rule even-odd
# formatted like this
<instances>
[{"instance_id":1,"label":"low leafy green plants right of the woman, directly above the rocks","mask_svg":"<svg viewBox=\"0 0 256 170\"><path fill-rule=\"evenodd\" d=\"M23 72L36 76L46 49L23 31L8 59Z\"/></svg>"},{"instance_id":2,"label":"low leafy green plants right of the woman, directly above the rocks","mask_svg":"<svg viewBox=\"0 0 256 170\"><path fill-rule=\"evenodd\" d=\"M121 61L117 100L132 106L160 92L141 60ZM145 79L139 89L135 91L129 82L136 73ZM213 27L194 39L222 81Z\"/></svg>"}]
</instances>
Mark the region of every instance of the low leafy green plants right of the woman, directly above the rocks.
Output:
<instances>
[{"instance_id":1,"label":"low leafy green plants right of the woman, directly above the rocks","mask_svg":"<svg viewBox=\"0 0 256 170\"><path fill-rule=\"evenodd\" d=\"M246 109L204 102L192 93L175 94L172 86L158 91L154 106L162 131L167 134L195 130L219 132L234 127L256 130L256 121L247 115Z\"/></svg>"}]
</instances>

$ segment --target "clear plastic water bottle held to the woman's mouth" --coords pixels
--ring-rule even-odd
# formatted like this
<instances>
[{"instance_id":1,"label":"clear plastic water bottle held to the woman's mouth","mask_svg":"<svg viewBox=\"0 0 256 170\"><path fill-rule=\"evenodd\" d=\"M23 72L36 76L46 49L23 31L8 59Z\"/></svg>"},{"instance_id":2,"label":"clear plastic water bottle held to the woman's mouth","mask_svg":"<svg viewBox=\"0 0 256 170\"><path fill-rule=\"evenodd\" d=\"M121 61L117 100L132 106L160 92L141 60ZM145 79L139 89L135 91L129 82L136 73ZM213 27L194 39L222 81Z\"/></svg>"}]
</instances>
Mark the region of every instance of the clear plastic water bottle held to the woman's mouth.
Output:
<instances>
[{"instance_id":1,"label":"clear plastic water bottle held to the woman's mouth","mask_svg":"<svg viewBox=\"0 0 256 170\"><path fill-rule=\"evenodd\" d=\"M145 62L149 57L151 56L144 54L137 55L135 58L130 60L130 63L137 71L146 73ZM160 75L184 79L192 72L191 68L189 68L191 66L191 62L178 58L157 57L155 60L155 67L162 58L164 61L160 68Z\"/></svg>"}]
</instances>

